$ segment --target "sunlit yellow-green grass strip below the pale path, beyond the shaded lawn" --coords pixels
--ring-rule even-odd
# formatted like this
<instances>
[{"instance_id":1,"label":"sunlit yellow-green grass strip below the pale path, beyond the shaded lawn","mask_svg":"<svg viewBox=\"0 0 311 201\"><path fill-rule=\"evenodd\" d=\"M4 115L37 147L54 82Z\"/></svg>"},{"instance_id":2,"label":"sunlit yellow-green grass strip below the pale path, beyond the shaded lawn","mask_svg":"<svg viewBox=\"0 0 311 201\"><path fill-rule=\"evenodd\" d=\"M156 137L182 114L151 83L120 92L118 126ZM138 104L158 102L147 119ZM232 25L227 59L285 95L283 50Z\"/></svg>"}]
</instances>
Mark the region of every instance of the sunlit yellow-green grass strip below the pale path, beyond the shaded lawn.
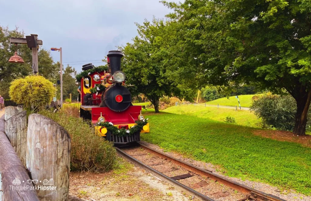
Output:
<instances>
[{"instance_id":1,"label":"sunlit yellow-green grass strip below the pale path, beyond the shaded lawn","mask_svg":"<svg viewBox=\"0 0 311 201\"><path fill-rule=\"evenodd\" d=\"M230 116L235 118L237 124L251 127L258 127L257 125L260 122L256 115L248 110L235 111L235 109L204 107L201 105L173 106L163 110L163 112L209 118L222 122L226 120L227 116Z\"/></svg>"}]
</instances>

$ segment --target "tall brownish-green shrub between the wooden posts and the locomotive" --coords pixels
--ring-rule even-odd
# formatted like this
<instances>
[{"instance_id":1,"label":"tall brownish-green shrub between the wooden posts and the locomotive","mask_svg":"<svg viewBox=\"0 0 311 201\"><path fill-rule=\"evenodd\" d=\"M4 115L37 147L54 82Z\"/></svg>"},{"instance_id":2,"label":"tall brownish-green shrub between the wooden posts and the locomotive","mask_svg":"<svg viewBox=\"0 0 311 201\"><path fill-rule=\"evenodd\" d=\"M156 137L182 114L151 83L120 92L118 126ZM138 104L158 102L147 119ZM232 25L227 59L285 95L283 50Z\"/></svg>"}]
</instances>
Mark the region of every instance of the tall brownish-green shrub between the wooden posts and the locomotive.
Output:
<instances>
[{"instance_id":1,"label":"tall brownish-green shrub between the wooden posts and the locomotive","mask_svg":"<svg viewBox=\"0 0 311 201\"><path fill-rule=\"evenodd\" d=\"M117 165L117 154L113 144L95 135L94 126L82 118L66 114L61 110L53 113L40 111L64 127L71 137L71 171L105 172Z\"/></svg>"}]
</instances>

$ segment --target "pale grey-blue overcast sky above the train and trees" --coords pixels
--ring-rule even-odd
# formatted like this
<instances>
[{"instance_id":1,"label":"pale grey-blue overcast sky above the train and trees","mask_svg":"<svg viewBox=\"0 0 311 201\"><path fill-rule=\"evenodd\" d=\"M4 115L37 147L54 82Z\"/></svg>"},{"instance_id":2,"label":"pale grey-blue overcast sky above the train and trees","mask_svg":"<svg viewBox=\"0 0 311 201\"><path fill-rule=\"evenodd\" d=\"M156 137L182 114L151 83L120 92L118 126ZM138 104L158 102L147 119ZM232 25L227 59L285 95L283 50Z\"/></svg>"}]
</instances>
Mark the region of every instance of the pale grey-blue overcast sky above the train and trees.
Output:
<instances>
[{"instance_id":1,"label":"pale grey-blue overcast sky above the train and trees","mask_svg":"<svg viewBox=\"0 0 311 201\"><path fill-rule=\"evenodd\" d=\"M164 18L169 12L159 0L0 0L0 25L38 34L45 49L62 47L64 65L88 60L101 65L97 62L109 50L137 35L134 22ZM59 60L58 52L51 55ZM90 62L70 64L80 72Z\"/></svg>"}]
</instances>

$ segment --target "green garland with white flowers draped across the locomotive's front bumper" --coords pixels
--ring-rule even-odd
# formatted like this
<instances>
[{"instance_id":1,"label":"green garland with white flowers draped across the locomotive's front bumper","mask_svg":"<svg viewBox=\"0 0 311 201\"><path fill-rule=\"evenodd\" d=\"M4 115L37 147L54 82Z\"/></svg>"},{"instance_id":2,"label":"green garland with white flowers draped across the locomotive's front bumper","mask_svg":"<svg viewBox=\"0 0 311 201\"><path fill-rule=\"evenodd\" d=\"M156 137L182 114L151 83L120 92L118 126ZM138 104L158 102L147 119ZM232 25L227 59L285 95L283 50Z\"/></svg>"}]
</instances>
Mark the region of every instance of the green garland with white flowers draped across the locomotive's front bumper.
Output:
<instances>
[{"instance_id":1,"label":"green garland with white flowers draped across the locomotive's front bumper","mask_svg":"<svg viewBox=\"0 0 311 201\"><path fill-rule=\"evenodd\" d=\"M126 135L131 136L134 133L141 131L142 127L144 127L147 124L147 120L148 119L136 121L135 123L137 125L132 126L129 130L126 130L124 128L118 129L118 127L115 127L114 124L111 122L97 123L97 125L105 127L108 131L111 132L111 134L114 134L118 137L122 137Z\"/></svg>"}]
</instances>

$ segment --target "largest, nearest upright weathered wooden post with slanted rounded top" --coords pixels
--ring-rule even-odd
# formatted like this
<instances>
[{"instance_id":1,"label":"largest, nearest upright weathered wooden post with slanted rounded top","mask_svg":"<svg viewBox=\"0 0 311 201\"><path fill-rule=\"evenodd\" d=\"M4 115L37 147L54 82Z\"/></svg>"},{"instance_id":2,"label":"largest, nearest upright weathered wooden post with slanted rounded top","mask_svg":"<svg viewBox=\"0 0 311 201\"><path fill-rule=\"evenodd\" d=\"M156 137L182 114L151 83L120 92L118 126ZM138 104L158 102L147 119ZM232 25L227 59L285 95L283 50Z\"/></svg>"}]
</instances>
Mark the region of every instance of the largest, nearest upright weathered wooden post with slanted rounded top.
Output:
<instances>
[{"instance_id":1,"label":"largest, nearest upright weathered wooden post with slanted rounded top","mask_svg":"<svg viewBox=\"0 0 311 201\"><path fill-rule=\"evenodd\" d=\"M27 130L26 167L38 189L40 201L67 201L70 171L70 136L52 119L30 114ZM41 182L40 182L41 181Z\"/></svg>"}]
</instances>

